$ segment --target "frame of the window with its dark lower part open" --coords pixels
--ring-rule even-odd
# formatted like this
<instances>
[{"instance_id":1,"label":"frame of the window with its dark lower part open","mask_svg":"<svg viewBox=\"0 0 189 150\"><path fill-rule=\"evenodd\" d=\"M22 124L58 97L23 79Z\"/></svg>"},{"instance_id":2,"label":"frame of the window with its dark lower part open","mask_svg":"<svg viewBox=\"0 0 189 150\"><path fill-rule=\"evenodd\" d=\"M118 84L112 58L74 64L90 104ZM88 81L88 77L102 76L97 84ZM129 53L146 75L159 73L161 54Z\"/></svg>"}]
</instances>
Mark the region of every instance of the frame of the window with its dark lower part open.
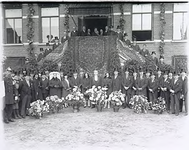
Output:
<instances>
[{"instance_id":1,"label":"frame of the window with its dark lower part open","mask_svg":"<svg viewBox=\"0 0 189 150\"><path fill-rule=\"evenodd\" d=\"M153 3L146 3L146 4L150 4L151 5L151 12L133 12L133 5L145 5L145 4L132 4L131 6L131 32L132 32L132 39L133 39L133 31L151 31L151 40L150 41L153 41L154 40L154 24L153 24L153 21L154 21L154 5ZM140 14L141 15L141 30L133 30L133 15L135 14ZM151 30L142 30L142 22L143 22L143 19L142 19L142 14L150 14L151 15ZM140 42L148 42L147 40L146 41L140 41Z\"/></svg>"}]
</instances>

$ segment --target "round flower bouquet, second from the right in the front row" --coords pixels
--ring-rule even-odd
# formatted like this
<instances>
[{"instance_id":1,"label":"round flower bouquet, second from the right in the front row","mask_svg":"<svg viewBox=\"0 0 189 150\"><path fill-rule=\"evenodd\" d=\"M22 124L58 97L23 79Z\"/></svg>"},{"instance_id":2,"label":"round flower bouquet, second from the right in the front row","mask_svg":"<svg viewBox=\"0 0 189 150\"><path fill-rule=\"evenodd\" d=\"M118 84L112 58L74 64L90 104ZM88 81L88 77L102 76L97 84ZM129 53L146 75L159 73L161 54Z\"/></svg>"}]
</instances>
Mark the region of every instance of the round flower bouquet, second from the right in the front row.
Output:
<instances>
[{"instance_id":1,"label":"round flower bouquet, second from the right in the front row","mask_svg":"<svg viewBox=\"0 0 189 150\"><path fill-rule=\"evenodd\" d=\"M134 112L137 114L139 113L147 113L148 108L149 108L149 103L147 100L147 97L144 95L134 95L129 104L131 105L131 108L134 109Z\"/></svg>"}]
</instances>

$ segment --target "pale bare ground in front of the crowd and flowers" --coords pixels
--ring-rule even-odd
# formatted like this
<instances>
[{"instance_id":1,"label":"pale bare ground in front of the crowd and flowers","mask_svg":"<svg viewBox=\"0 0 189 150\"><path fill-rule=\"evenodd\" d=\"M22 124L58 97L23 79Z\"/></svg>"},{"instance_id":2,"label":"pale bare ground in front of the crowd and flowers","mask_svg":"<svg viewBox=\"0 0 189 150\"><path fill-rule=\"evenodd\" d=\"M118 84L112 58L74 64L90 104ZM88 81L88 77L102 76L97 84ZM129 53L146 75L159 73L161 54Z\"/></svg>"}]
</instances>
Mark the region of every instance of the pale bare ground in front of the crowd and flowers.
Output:
<instances>
[{"instance_id":1,"label":"pale bare ground in front of the crowd and flowers","mask_svg":"<svg viewBox=\"0 0 189 150\"><path fill-rule=\"evenodd\" d=\"M66 108L5 124L6 150L188 150L189 117ZM188 139L187 139L188 138Z\"/></svg>"}]
</instances>

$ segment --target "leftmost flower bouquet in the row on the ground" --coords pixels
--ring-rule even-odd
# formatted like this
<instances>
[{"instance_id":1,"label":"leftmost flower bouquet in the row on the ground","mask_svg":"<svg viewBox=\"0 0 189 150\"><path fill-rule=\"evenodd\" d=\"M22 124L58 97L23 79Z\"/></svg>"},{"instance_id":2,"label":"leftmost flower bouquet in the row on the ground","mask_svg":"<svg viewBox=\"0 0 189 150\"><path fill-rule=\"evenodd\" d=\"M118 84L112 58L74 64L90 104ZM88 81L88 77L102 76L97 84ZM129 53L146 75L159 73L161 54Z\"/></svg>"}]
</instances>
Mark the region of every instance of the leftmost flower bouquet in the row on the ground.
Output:
<instances>
[{"instance_id":1,"label":"leftmost flower bouquet in the row on the ground","mask_svg":"<svg viewBox=\"0 0 189 150\"><path fill-rule=\"evenodd\" d=\"M44 100L37 100L30 104L28 112L30 116L34 116L39 119L43 116L43 113L49 112L49 105Z\"/></svg>"}]
</instances>

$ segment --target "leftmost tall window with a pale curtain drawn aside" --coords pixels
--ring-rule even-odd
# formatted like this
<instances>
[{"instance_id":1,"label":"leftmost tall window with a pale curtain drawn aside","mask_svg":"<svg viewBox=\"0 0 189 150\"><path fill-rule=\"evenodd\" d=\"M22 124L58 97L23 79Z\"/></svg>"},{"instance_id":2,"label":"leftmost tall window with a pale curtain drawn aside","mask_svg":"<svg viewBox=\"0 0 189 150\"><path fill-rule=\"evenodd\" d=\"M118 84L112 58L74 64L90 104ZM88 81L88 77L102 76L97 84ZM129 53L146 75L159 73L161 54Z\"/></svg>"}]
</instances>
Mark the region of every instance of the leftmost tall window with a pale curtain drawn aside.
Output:
<instances>
[{"instance_id":1,"label":"leftmost tall window with a pale curtain drawn aside","mask_svg":"<svg viewBox=\"0 0 189 150\"><path fill-rule=\"evenodd\" d=\"M5 9L6 43L22 43L22 9Z\"/></svg>"}]
</instances>

